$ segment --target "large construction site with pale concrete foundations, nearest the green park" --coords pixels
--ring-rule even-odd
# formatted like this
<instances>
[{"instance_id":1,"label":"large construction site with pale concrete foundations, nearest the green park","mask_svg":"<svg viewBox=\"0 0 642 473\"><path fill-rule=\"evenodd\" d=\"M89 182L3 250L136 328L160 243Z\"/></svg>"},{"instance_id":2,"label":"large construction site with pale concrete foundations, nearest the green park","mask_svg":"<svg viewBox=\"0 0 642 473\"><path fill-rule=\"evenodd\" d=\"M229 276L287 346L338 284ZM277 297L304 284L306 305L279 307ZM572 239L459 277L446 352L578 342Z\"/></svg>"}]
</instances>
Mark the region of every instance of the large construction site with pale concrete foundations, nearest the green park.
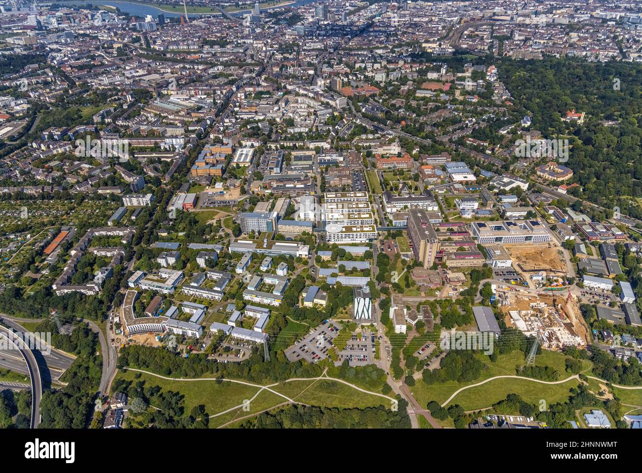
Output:
<instances>
[{"instance_id":1,"label":"large construction site with pale concrete foundations, nearest the green park","mask_svg":"<svg viewBox=\"0 0 642 473\"><path fill-rule=\"evenodd\" d=\"M562 350L566 346L586 346L589 328L570 291L552 295L499 286L496 295L506 325L527 336L538 337L542 348Z\"/></svg>"}]
</instances>

